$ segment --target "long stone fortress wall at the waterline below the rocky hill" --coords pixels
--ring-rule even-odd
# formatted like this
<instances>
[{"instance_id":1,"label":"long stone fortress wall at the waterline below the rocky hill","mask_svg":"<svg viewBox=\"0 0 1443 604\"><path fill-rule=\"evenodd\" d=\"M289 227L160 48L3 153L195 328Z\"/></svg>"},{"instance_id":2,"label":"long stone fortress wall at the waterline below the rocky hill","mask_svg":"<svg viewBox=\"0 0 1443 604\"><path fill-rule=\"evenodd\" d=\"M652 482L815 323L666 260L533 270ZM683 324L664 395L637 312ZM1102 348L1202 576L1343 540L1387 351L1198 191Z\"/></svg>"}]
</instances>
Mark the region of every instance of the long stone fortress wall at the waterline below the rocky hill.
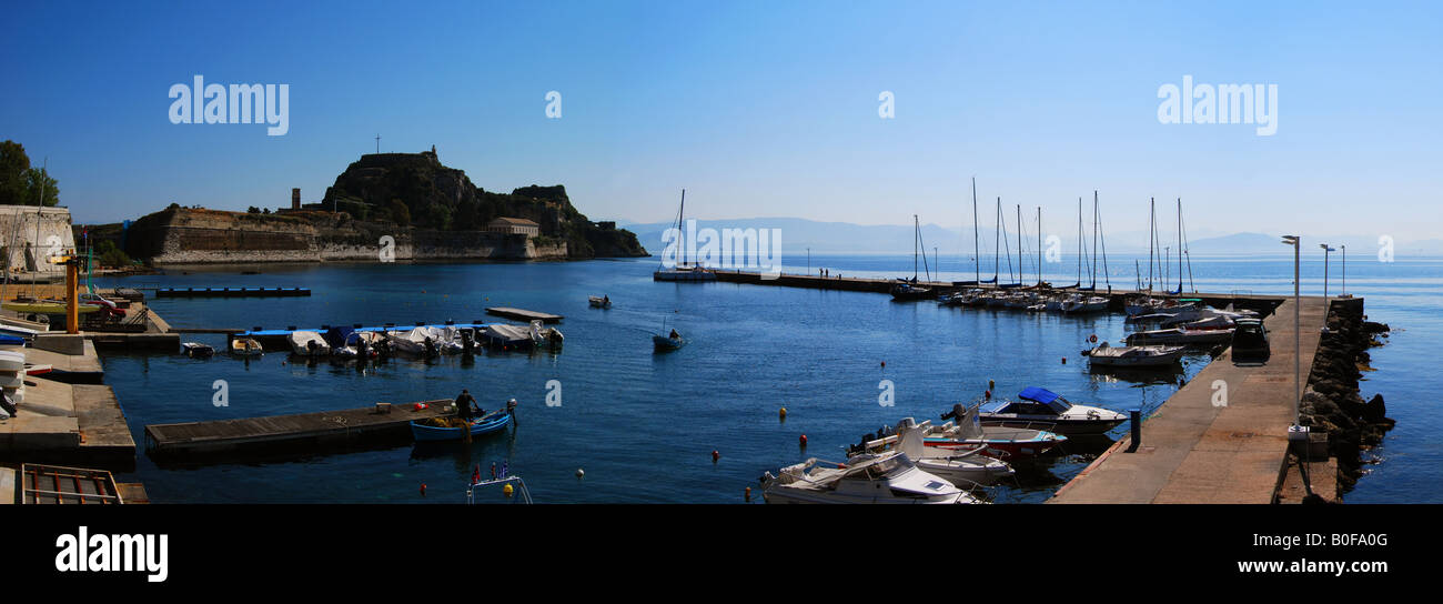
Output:
<instances>
[{"instance_id":1,"label":"long stone fortress wall at the waterline below the rocky hill","mask_svg":"<svg viewBox=\"0 0 1443 604\"><path fill-rule=\"evenodd\" d=\"M437 231L355 221L345 212L242 214L169 208L130 227L126 250L152 264L550 260L566 241L486 231Z\"/></svg>"}]
</instances>

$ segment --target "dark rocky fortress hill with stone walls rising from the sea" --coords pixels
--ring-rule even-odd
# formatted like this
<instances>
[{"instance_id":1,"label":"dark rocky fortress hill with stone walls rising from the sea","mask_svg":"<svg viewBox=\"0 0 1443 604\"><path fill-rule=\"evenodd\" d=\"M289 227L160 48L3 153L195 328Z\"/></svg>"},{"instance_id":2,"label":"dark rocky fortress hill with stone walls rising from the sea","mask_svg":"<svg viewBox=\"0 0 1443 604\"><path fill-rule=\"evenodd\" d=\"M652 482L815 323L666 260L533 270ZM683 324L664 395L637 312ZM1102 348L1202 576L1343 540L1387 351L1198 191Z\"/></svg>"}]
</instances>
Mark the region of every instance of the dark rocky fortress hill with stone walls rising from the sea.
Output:
<instances>
[{"instance_id":1,"label":"dark rocky fortress hill with stone walls rising from the sea","mask_svg":"<svg viewBox=\"0 0 1443 604\"><path fill-rule=\"evenodd\" d=\"M540 236L488 233L498 217L532 220ZM134 221L123 240L127 254L156 264L648 256L631 231L587 220L561 185L488 192L434 150L361 156L320 204L300 211L172 204Z\"/></svg>"}]
</instances>

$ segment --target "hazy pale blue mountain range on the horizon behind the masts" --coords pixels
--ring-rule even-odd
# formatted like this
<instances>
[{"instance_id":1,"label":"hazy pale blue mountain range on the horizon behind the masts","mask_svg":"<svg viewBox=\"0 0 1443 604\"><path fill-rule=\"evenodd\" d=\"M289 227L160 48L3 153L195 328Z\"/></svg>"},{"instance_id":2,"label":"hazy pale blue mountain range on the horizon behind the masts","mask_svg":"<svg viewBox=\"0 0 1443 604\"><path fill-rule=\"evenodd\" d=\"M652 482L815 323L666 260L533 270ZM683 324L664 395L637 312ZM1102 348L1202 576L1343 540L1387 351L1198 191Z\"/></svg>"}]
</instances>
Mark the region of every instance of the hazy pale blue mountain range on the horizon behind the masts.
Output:
<instances>
[{"instance_id":1,"label":"hazy pale blue mountain range on the horizon behind the masts","mask_svg":"<svg viewBox=\"0 0 1443 604\"><path fill-rule=\"evenodd\" d=\"M618 223L618 227L636 234L642 246L652 254L659 254L665 244L662 233L671 228L670 223ZM782 251L785 254L801 254L811 249L815 254L900 254L912 253L913 230L909 224L851 224L851 223L820 223L805 218L736 218L736 220L698 220L697 228L779 228L782 234ZM1035 227L1032 227L1035 228ZM1162 244L1176 247L1176 234L1163 233ZM994 243L993 225L984 225L977 233L977 247L983 256L991 256ZM1062 240L1062 253L1076 251L1075 225L1066 230L1046 228L1043 237L1053 234ZM1012 253L1017 253L1017 233L1003 231L1004 244ZM1088 249L1092 247L1091 225L1085 227L1084 237ZM1351 251L1359 254L1377 254L1380 236L1309 236L1303 234L1303 253L1317 250L1317 244L1328 241L1335 249L1348 246ZM1023 247L1029 253L1036 253L1038 233L1027 233L1027 225L1022 234ZM1123 231L1105 234L1102 241L1108 253L1146 254L1146 231ZM937 224L922 225L922 244L926 253L935 247L942 254L957 254L973 251L973 230L948 228ZM1046 240L1043 240L1046 246ZM1192 256L1257 256L1257 254L1287 254L1289 249L1281 243L1281 234L1263 233L1218 233L1201 231L1189 233L1188 250ZM1443 240L1397 240L1394 241L1394 256L1439 256L1443 254Z\"/></svg>"}]
</instances>

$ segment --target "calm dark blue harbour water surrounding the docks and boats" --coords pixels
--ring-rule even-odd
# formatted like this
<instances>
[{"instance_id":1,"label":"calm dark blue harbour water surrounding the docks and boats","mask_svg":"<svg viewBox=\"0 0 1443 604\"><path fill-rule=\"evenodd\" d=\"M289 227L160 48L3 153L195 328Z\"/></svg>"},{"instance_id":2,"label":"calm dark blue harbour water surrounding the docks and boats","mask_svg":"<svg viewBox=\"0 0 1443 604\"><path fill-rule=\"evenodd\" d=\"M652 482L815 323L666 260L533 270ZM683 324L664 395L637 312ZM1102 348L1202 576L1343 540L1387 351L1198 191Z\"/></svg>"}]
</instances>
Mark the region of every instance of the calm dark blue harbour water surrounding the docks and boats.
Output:
<instances>
[{"instance_id":1,"label":"calm dark blue harbour water surrounding the docks and boats","mask_svg":"<svg viewBox=\"0 0 1443 604\"><path fill-rule=\"evenodd\" d=\"M804 259L788 260L802 262L788 272L807 272ZM1113 262L1114 286L1136 283L1131 260ZM947 279L971 277L970 263L955 257L942 263ZM912 259L812 256L811 266L848 276L896 276L911 273ZM459 358L392 360L358 371L355 364L291 363L281 353L250 363L224 354L212 360L107 355L105 380L126 407L136 442L143 442L146 423L450 399L462 387L488 409L508 397L521 402L514 432L479 438L470 446L400 446L182 470L159 468L141 455L136 474L124 478L143 481L154 501L167 503L456 503L465 497L475 464L485 473L491 462L505 460L527 480L537 501L740 503L743 488L756 487L763 471L775 473L807 457L843 460L841 448L860 435L903 416L937 418L954 402L981 394L988 380L1006 396L1043 386L1079 403L1154 409L1176 390L1179 379L1189 379L1206 363L1205 355L1192 357L1180 376L1146 381L1089 374L1078 350L1089 334L1120 341L1126 328L1115 315L1063 318L896 303L877 293L655 283L654 269L654 259L326 264L264 266L264 275L211 267L105 280L101 285L307 286L315 292L297 299L153 301L175 327L470 321L483 318L489 305L567 316L560 325L566 350L558 354L488 353L470 364ZM1291 292L1291 269L1290 257L1192 262L1199 290ZM1058 275L1046 277L1071 283L1074 270L1063 259ZM1371 474L1348 500L1443 501L1437 487L1443 451L1429 438L1443 428L1430 396L1437 381L1424 377L1436 363L1424 342L1443 331L1443 259L1388 264L1354 259L1348 270L1348 290L1367 296L1371 318L1395 329L1390 345L1374 351L1378 371L1368 374L1362 394L1384 393L1390 415L1398 419L1398 428L1371 455L1377 461ZM1303 272L1304 292L1320 293L1320 259L1304 263ZM1335 264L1335 290L1338 277ZM610 295L615 308L587 308L586 296L593 293ZM675 327L691 344L654 354L649 335L664 327ZM224 347L221 337L192 340ZM227 380L229 406L212 405L215 380ZM544 403L548 380L561 383L560 406ZM880 380L896 386L893 407L877 402ZM781 420L778 409L784 406L788 416ZM798 444L804 433L805 451ZM1098 446L1071 446L1026 471L1019 484L996 487L990 496L996 501L1042 501L1081 471ZM713 449L722 454L716 464ZM584 468L584 480L576 478L577 468ZM418 493L423 483L426 497Z\"/></svg>"}]
</instances>

